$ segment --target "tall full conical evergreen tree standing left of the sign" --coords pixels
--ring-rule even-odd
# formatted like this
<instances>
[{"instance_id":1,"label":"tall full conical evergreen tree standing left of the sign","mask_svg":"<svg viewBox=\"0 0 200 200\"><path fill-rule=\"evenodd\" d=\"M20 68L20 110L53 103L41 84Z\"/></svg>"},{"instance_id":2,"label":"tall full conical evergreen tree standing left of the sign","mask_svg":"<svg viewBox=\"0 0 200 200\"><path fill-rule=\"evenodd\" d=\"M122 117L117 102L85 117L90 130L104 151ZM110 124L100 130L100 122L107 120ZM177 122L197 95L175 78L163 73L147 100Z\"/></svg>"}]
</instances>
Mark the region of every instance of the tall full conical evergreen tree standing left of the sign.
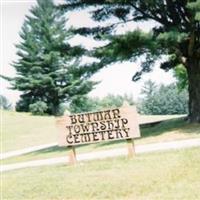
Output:
<instances>
[{"instance_id":1,"label":"tall full conical evergreen tree standing left of the sign","mask_svg":"<svg viewBox=\"0 0 200 200\"><path fill-rule=\"evenodd\" d=\"M91 67L81 66L84 48L70 46L73 35L66 31L64 14L52 0L37 0L30 12L20 33L22 42L16 45L19 59L13 66L17 76L4 78L10 80L12 89L23 92L17 111L30 111L44 102L45 113L57 115L62 102L92 90Z\"/></svg>"}]
</instances>

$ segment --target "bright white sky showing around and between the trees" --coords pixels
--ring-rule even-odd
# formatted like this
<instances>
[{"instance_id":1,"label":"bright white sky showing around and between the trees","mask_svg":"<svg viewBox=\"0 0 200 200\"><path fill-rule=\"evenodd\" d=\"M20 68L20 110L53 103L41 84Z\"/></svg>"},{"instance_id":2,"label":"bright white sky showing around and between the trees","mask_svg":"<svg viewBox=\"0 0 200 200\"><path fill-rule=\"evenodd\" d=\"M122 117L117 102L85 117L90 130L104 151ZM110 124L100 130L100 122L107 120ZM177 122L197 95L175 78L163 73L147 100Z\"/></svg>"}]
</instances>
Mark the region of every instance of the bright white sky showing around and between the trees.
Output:
<instances>
[{"instance_id":1,"label":"bright white sky showing around and between the trees","mask_svg":"<svg viewBox=\"0 0 200 200\"><path fill-rule=\"evenodd\" d=\"M15 44L19 43L19 31L21 30L25 15L29 14L29 9L35 4L34 0L1 0L1 74L7 76L15 76L15 69L11 66L13 61L17 61ZM87 14L84 12L77 12L70 15L70 23L77 24L77 26L92 25ZM122 29L130 30L130 27L137 27L138 25L127 25ZM152 26L151 23L142 23L139 26L148 31ZM121 30L120 30L121 31ZM73 43L86 43L87 46L93 46L88 39L80 40L76 38ZM139 82L131 81L133 74L139 68L139 63L123 63L115 64L102 69L99 73L92 77L92 80L102 81L96 86L96 89L90 93L90 96L105 96L108 93L132 94L134 99L138 98L140 90L144 81L151 79L156 83L171 83L174 81L170 72L166 73L160 70L158 66L154 71L142 77ZM7 89L8 82L1 80L0 94L5 95L13 104L19 98L19 92Z\"/></svg>"}]
</instances>

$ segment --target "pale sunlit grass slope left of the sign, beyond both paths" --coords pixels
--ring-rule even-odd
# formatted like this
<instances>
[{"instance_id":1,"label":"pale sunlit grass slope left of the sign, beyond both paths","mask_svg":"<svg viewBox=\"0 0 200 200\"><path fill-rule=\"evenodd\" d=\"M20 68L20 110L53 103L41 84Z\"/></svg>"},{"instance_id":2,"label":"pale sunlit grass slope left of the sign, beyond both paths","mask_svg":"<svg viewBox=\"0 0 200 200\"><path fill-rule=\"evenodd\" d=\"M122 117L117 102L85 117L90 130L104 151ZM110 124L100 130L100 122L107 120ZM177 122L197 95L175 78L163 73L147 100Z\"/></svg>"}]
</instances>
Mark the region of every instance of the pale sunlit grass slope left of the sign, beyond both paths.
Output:
<instances>
[{"instance_id":1,"label":"pale sunlit grass slope left of the sign, beyond both paths","mask_svg":"<svg viewBox=\"0 0 200 200\"><path fill-rule=\"evenodd\" d=\"M2 152L57 141L55 117L2 111Z\"/></svg>"}]
</instances>

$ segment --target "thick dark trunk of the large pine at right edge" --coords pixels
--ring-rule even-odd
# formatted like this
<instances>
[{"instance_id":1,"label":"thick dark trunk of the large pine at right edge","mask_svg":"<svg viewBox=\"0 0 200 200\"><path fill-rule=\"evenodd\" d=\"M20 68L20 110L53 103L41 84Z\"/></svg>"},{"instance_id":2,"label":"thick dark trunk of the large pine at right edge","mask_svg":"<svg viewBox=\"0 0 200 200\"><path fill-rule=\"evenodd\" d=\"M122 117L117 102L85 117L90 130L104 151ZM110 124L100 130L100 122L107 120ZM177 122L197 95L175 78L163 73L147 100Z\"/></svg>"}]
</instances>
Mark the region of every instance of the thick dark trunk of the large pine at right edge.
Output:
<instances>
[{"instance_id":1,"label":"thick dark trunk of the large pine at right edge","mask_svg":"<svg viewBox=\"0 0 200 200\"><path fill-rule=\"evenodd\" d=\"M200 123L200 60L190 59L187 72L189 82L189 121Z\"/></svg>"}]
</instances>

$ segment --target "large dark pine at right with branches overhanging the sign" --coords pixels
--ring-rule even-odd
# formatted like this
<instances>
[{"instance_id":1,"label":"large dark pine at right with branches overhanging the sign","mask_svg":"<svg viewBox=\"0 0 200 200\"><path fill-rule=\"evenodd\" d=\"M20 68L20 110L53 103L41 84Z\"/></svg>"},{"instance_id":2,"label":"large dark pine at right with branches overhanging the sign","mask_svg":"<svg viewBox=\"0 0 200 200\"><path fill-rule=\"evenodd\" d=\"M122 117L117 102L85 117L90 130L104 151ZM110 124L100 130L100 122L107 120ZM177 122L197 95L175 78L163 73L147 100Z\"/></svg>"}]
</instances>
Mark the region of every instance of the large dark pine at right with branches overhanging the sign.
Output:
<instances>
[{"instance_id":1,"label":"large dark pine at right with branches overhanging the sign","mask_svg":"<svg viewBox=\"0 0 200 200\"><path fill-rule=\"evenodd\" d=\"M200 122L200 0L66 0L63 9L92 6L92 18L104 21L94 28L75 32L106 39L93 56L100 58L99 68L118 61L134 61L143 56L142 70L133 76L138 80L143 72L151 71L161 57L161 68L169 70L184 66L188 77L189 121ZM107 21L112 24L106 24ZM150 32L133 30L116 34L119 25L154 21Z\"/></svg>"}]
</instances>

